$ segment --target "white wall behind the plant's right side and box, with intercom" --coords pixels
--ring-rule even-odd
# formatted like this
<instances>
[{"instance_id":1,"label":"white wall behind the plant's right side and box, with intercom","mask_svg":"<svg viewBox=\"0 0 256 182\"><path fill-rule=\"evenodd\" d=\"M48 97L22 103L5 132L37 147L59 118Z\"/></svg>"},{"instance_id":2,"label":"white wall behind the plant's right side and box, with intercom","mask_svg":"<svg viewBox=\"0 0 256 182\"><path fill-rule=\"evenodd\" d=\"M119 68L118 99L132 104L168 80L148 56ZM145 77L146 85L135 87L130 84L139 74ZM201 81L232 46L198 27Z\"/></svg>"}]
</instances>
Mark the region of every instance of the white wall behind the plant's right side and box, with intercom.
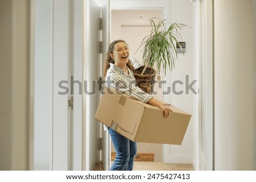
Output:
<instances>
[{"instance_id":1,"label":"white wall behind the plant's right side and box, with intercom","mask_svg":"<svg viewBox=\"0 0 256 182\"><path fill-rule=\"evenodd\" d=\"M176 84L176 91L184 91L181 95L175 95L171 92L169 95L164 95L164 100L168 101L177 108L182 109L185 112L191 113L192 117L189 122L187 132L181 146L164 145L164 162L168 163L192 163L193 155L193 93L189 91L185 94L185 75L189 75L189 83L193 81L194 73L193 67L195 62L193 60L193 3L187 0L171 0L170 1L170 23L183 23L187 27L184 27L181 31L183 41L186 43L186 50L184 55L179 54L179 60L175 64L175 69L171 73L167 73L163 80L167 81L165 87L171 87L175 81L182 81L184 84ZM194 89L196 87L194 86ZM167 91L167 88L164 88Z\"/></svg>"}]
</instances>

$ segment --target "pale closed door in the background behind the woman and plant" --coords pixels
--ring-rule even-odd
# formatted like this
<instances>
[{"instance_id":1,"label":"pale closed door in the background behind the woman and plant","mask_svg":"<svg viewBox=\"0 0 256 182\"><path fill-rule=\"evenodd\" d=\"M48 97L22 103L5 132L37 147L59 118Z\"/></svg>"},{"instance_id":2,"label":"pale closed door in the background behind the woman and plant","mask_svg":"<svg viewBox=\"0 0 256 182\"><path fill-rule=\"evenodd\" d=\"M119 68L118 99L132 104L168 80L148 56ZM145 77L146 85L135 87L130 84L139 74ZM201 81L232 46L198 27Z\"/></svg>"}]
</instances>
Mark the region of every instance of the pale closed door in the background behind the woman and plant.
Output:
<instances>
[{"instance_id":1,"label":"pale closed door in the background behind the woman and plant","mask_svg":"<svg viewBox=\"0 0 256 182\"><path fill-rule=\"evenodd\" d=\"M150 19L163 19L163 9L143 10L112 10L111 12L111 42L125 40L129 45L130 57L136 58L142 64L141 50L138 49L143 37L151 31ZM138 49L138 51L137 51ZM160 77L158 77L158 83ZM162 100L162 89L155 84L156 98ZM163 162L163 145L159 143L137 142L137 153L154 154L154 162ZM111 152L114 152L111 142Z\"/></svg>"}]
</instances>

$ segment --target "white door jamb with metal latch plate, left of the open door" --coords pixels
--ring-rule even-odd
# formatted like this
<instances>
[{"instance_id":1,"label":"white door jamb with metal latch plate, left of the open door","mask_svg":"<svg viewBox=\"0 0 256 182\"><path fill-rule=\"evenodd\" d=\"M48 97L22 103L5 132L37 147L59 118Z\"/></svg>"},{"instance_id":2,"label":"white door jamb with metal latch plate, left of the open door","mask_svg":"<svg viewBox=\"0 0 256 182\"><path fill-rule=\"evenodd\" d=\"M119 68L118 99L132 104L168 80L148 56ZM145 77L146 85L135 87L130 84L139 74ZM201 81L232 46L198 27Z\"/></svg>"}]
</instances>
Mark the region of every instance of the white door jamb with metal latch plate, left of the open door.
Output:
<instances>
[{"instance_id":1,"label":"white door jamb with metal latch plate, left of the open door","mask_svg":"<svg viewBox=\"0 0 256 182\"><path fill-rule=\"evenodd\" d=\"M53 170L82 170L82 2L53 2Z\"/></svg>"}]
</instances>

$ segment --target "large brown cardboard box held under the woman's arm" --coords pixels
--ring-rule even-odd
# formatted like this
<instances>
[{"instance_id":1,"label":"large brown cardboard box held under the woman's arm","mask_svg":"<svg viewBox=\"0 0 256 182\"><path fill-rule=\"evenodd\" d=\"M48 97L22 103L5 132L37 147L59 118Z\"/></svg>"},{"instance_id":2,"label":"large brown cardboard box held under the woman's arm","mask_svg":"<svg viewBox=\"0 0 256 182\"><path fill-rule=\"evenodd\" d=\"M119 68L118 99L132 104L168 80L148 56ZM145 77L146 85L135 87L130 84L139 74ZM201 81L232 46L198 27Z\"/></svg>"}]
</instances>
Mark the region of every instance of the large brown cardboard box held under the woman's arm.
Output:
<instances>
[{"instance_id":1,"label":"large brown cardboard box held under the woman's arm","mask_svg":"<svg viewBox=\"0 0 256 182\"><path fill-rule=\"evenodd\" d=\"M162 109L107 88L95 118L132 141L181 145L191 115L170 108L173 112L164 118Z\"/></svg>"}]
</instances>

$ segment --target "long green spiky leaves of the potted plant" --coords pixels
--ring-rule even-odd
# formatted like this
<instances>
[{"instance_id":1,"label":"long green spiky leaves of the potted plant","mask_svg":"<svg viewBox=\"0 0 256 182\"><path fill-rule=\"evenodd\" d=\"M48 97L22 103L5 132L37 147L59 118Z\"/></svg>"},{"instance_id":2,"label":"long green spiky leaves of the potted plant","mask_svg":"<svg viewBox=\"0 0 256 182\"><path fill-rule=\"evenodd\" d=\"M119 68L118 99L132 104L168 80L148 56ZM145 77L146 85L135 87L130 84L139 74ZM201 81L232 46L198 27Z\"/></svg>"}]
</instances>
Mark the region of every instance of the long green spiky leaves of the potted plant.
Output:
<instances>
[{"instance_id":1,"label":"long green spiky leaves of the potted plant","mask_svg":"<svg viewBox=\"0 0 256 182\"><path fill-rule=\"evenodd\" d=\"M166 27L165 21L159 20L156 24L154 19L151 19L151 32L144 37L139 46L143 50L143 64L150 67L156 66L158 74L162 67L164 74L167 69L174 69L175 61L177 61L176 44L181 48L179 40L182 40L182 37L179 31L185 26L185 24L172 23Z\"/></svg>"}]
</instances>

